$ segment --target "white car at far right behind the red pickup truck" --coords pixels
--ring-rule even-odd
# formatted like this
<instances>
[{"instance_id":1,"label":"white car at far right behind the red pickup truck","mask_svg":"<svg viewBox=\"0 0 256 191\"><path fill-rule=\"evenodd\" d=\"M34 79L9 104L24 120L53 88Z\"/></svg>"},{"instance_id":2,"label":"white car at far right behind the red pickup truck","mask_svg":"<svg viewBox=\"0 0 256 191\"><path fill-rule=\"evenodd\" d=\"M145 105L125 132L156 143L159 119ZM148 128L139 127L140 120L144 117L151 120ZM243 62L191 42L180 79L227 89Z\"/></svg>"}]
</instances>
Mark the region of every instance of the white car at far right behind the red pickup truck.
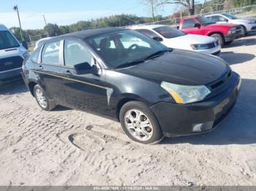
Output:
<instances>
[{"instance_id":1,"label":"white car at far right behind the red pickup truck","mask_svg":"<svg viewBox=\"0 0 256 191\"><path fill-rule=\"evenodd\" d=\"M227 13L206 15L206 17L210 17L211 20L214 20L216 23L232 23L240 25L242 27L241 29L243 36L251 31L256 31L256 17L238 18Z\"/></svg>"}]
</instances>

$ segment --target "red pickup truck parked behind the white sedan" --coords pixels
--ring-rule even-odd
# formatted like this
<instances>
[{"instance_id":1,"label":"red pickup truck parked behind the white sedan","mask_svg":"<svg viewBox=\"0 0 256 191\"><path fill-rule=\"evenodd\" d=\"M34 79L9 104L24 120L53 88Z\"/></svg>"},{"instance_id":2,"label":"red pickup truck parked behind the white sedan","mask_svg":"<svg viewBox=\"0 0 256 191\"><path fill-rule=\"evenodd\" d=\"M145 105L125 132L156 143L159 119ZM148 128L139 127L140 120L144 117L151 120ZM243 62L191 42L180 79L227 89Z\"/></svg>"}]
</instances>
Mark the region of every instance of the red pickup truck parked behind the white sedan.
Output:
<instances>
[{"instance_id":1,"label":"red pickup truck parked behind the white sedan","mask_svg":"<svg viewBox=\"0 0 256 191\"><path fill-rule=\"evenodd\" d=\"M212 36L219 44L230 44L234 39L241 38L241 26L228 23L215 23L208 17L186 17L181 19L178 29L187 34Z\"/></svg>"}]
</instances>

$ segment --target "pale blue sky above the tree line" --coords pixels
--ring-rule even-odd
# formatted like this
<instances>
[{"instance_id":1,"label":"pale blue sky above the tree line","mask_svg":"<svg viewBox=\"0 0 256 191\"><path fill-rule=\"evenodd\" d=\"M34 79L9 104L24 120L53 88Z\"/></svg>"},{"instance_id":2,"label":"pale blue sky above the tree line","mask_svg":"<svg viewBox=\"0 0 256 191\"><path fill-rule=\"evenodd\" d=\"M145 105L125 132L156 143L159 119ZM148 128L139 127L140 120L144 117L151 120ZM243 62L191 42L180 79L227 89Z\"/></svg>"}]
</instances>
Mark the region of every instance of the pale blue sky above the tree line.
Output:
<instances>
[{"instance_id":1,"label":"pale blue sky above the tree line","mask_svg":"<svg viewBox=\"0 0 256 191\"><path fill-rule=\"evenodd\" d=\"M141 0L0 0L0 23L8 28L18 27L18 16L12 7L18 4L23 29L43 28L45 15L47 23L59 26L76 23L80 20L118 15L121 13L150 16L151 12ZM167 5L157 12L171 15L175 5Z\"/></svg>"}]
</instances>

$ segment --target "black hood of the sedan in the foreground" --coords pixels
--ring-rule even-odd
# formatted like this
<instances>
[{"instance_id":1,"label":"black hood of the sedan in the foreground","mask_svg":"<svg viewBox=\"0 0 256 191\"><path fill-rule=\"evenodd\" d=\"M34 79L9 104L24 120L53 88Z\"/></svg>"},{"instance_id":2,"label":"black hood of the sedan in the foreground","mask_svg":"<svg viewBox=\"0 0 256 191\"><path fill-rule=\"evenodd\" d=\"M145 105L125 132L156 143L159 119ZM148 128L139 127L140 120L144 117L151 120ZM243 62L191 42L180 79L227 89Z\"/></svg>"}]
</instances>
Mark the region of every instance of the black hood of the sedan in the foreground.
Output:
<instances>
[{"instance_id":1,"label":"black hood of the sedan in the foreground","mask_svg":"<svg viewBox=\"0 0 256 191\"><path fill-rule=\"evenodd\" d=\"M179 85L207 85L222 77L230 67L221 58L187 50L173 50L129 68L124 74Z\"/></svg>"}]
</instances>

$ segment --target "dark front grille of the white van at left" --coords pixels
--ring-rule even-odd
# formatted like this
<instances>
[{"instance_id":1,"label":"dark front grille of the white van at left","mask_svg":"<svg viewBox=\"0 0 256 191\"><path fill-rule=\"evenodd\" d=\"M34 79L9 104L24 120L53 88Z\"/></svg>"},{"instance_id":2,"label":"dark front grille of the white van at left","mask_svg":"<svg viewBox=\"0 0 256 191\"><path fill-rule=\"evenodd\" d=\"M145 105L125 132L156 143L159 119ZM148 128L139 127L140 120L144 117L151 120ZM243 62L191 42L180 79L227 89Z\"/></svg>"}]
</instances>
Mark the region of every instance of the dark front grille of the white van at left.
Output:
<instances>
[{"instance_id":1,"label":"dark front grille of the white van at left","mask_svg":"<svg viewBox=\"0 0 256 191\"><path fill-rule=\"evenodd\" d=\"M12 56L9 58L0 59L0 71L7 71L11 69L17 69L22 66L23 58L20 56Z\"/></svg>"}]
</instances>

